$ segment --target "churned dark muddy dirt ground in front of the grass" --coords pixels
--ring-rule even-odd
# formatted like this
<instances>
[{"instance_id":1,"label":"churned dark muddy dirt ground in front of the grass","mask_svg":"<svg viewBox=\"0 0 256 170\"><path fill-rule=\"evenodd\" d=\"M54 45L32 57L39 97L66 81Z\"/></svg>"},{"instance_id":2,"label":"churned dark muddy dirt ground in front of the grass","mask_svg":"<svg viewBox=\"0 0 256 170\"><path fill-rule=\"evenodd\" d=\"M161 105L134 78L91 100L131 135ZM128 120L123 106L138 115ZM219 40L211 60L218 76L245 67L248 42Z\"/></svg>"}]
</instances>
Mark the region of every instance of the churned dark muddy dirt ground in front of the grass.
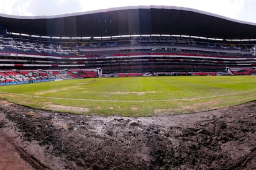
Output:
<instances>
[{"instance_id":1,"label":"churned dark muddy dirt ground in front of the grass","mask_svg":"<svg viewBox=\"0 0 256 170\"><path fill-rule=\"evenodd\" d=\"M2 100L0 169L256 169L256 101L130 118L57 113Z\"/></svg>"}]
</instances>

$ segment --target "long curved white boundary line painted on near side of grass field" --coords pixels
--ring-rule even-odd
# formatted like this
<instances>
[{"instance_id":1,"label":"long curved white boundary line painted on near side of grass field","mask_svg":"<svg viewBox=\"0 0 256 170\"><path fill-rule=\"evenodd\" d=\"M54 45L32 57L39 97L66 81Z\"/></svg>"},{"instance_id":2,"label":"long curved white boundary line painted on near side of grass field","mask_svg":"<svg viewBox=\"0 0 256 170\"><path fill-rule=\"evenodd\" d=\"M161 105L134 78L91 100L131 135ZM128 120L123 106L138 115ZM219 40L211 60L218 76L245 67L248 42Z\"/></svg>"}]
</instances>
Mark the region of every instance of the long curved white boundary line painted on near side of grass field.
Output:
<instances>
[{"instance_id":1,"label":"long curved white boundary line painted on near side of grass field","mask_svg":"<svg viewBox=\"0 0 256 170\"><path fill-rule=\"evenodd\" d=\"M27 96L27 97L36 97L36 98L43 98L43 99L62 99L62 100L75 100L75 101L91 101L91 102L168 102L168 101L193 101L196 99L208 99L212 97L222 97L222 96L232 96L236 94L246 93L246 92L252 92L256 91L256 89L251 91L242 91L242 92L235 92L230 94L221 94L216 96L205 96L205 97L196 97L196 98L190 98L190 99L165 99L165 100L151 100L151 101L114 101L114 100L99 100L99 99L73 99L73 98L62 98L62 97L43 97L43 96L34 96L34 95L28 95L28 94L18 94L18 93L12 93L12 92L2 92L5 94L13 94L18 96Z\"/></svg>"}]
</instances>

